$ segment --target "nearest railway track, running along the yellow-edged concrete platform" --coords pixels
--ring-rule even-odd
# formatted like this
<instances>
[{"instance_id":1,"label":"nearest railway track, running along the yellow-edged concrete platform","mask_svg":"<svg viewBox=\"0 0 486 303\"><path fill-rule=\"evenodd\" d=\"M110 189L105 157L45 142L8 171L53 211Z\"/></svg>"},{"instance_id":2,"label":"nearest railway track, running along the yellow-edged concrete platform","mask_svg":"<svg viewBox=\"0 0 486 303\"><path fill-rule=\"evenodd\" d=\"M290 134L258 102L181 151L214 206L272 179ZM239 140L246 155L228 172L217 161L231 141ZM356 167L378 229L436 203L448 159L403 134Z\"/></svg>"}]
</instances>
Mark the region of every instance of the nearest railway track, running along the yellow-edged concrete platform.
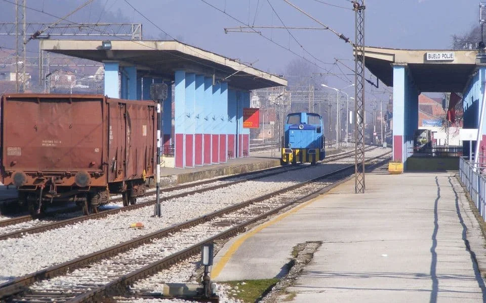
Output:
<instances>
[{"instance_id":1,"label":"nearest railway track, running along the yellow-edged concrete platform","mask_svg":"<svg viewBox=\"0 0 486 303\"><path fill-rule=\"evenodd\" d=\"M388 157L389 154L368 161ZM312 180L17 278L0 285L0 298L8 302L99 302L104 301L106 296L125 295L127 286L134 281L200 254L200 246L204 243L234 236L250 224L329 190L343 182L343 174L349 175L353 171L354 165L348 165ZM341 181L336 182L337 179Z\"/></svg>"}]
</instances>

